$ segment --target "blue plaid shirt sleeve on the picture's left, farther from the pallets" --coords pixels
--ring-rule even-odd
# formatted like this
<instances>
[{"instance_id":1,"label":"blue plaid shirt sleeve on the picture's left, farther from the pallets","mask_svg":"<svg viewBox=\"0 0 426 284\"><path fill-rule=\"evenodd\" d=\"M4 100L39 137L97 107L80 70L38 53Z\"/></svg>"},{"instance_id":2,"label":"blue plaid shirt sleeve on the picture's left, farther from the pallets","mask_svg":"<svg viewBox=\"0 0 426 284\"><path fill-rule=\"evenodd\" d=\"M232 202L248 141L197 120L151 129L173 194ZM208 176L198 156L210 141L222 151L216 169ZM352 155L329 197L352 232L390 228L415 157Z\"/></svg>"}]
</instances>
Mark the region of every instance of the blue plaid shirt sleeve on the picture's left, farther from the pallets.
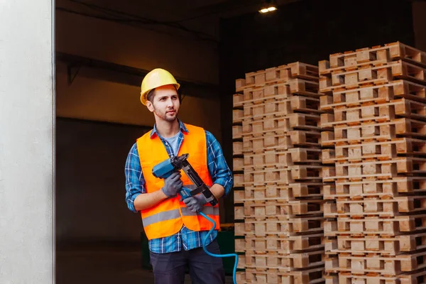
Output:
<instances>
[{"instance_id":1,"label":"blue plaid shirt sleeve on the picture's left, farther from the pallets","mask_svg":"<svg viewBox=\"0 0 426 284\"><path fill-rule=\"evenodd\" d=\"M126 166L124 167L124 174L126 175L126 203L127 207L132 212L137 212L133 202L135 198L141 193L145 193L145 180L141 168L141 161L139 160L138 148L136 143L133 144L127 155Z\"/></svg>"}]
</instances>

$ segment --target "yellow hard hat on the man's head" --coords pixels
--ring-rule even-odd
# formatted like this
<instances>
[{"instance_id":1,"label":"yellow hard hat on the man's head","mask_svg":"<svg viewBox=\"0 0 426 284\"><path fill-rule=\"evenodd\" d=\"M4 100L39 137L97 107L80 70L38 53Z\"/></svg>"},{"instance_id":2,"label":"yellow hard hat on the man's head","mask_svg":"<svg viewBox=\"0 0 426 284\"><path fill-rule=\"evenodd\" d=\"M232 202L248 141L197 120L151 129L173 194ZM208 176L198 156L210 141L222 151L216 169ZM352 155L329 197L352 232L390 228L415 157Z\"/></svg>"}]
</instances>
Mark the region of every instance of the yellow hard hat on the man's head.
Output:
<instances>
[{"instance_id":1,"label":"yellow hard hat on the man's head","mask_svg":"<svg viewBox=\"0 0 426 284\"><path fill-rule=\"evenodd\" d=\"M141 103L146 105L146 95L151 89L155 89L166 84L175 85L176 89L179 89L180 84L176 82L175 77L170 74L167 70L156 68L149 72L142 80L141 85Z\"/></svg>"}]
</instances>

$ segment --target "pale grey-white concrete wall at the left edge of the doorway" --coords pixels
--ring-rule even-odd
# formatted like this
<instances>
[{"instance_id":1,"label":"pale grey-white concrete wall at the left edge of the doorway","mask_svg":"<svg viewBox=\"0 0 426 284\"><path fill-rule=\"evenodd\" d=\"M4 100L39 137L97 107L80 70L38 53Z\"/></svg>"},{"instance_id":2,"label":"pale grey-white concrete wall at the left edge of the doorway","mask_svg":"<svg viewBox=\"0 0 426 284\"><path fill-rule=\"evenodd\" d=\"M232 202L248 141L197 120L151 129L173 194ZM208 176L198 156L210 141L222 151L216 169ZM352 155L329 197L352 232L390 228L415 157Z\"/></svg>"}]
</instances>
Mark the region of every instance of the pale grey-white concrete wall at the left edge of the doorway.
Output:
<instances>
[{"instance_id":1,"label":"pale grey-white concrete wall at the left edge of the doorway","mask_svg":"<svg viewBox=\"0 0 426 284\"><path fill-rule=\"evenodd\" d=\"M53 283L52 1L0 1L0 283Z\"/></svg>"}]
</instances>

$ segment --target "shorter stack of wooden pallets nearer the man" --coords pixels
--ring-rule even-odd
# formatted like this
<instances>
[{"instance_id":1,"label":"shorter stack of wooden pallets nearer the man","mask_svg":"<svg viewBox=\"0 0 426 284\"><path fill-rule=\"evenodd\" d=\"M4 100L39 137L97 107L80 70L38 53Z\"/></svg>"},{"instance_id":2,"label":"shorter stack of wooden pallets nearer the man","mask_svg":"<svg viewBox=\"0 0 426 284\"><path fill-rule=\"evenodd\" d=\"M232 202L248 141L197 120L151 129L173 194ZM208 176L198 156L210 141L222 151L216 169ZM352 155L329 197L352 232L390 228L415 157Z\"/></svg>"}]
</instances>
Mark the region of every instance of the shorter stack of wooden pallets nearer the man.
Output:
<instances>
[{"instance_id":1,"label":"shorter stack of wooden pallets nearer the man","mask_svg":"<svg viewBox=\"0 0 426 284\"><path fill-rule=\"evenodd\" d=\"M246 74L234 94L238 283L324 280L318 67Z\"/></svg>"}]
</instances>

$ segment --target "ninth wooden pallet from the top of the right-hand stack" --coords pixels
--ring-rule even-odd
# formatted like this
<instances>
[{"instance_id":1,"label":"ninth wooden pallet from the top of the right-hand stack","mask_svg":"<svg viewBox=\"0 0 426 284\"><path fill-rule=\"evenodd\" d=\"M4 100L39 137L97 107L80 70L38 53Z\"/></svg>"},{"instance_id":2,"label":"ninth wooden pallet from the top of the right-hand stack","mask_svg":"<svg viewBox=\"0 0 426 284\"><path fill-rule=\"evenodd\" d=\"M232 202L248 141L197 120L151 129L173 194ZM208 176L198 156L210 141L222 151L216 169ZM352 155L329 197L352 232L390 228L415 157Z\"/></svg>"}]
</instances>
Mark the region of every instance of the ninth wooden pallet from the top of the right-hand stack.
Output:
<instances>
[{"instance_id":1,"label":"ninth wooden pallet from the top of the right-hand stack","mask_svg":"<svg viewBox=\"0 0 426 284\"><path fill-rule=\"evenodd\" d=\"M426 211L426 196L394 197L392 200L336 200L324 204L324 217L395 217Z\"/></svg>"}]
</instances>

